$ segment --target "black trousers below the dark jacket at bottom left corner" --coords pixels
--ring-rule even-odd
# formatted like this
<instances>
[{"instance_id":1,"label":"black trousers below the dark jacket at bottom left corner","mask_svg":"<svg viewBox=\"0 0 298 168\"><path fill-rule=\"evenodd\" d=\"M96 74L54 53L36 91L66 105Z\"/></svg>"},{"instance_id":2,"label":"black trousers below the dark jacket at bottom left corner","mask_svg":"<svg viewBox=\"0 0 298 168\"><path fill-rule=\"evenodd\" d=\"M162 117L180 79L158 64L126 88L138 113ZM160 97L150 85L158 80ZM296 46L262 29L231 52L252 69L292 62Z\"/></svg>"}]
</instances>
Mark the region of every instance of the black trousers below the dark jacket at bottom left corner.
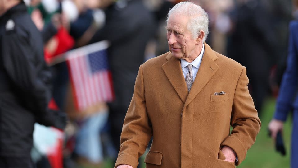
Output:
<instances>
[{"instance_id":1,"label":"black trousers below the dark jacket at bottom left corner","mask_svg":"<svg viewBox=\"0 0 298 168\"><path fill-rule=\"evenodd\" d=\"M0 156L0 168L34 168L31 157Z\"/></svg>"}]
</instances>

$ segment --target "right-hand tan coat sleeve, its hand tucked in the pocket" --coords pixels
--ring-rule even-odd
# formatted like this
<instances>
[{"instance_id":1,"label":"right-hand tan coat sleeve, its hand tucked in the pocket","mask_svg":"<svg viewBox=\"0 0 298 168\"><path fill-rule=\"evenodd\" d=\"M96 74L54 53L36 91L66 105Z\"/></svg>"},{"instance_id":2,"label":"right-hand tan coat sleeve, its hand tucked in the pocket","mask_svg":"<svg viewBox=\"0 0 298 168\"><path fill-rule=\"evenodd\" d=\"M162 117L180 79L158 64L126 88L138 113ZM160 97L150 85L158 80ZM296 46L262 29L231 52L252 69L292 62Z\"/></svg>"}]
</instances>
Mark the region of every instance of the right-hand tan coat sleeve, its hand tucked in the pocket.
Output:
<instances>
[{"instance_id":1,"label":"right-hand tan coat sleeve, its hand tucked in the pocket","mask_svg":"<svg viewBox=\"0 0 298 168\"><path fill-rule=\"evenodd\" d=\"M243 67L238 79L231 115L233 130L221 146L231 147L237 154L238 164L246 157L247 150L255 143L261 121L248 91L248 77Z\"/></svg>"}]
</instances>

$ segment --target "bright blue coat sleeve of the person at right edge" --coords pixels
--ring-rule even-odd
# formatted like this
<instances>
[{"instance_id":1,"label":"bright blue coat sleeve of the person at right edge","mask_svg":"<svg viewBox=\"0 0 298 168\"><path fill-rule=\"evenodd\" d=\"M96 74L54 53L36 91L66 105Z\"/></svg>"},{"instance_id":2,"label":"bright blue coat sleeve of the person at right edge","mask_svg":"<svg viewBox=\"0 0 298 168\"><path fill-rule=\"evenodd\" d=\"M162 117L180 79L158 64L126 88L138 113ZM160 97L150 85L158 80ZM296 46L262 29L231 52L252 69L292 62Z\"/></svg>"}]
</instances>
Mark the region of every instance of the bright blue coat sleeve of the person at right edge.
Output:
<instances>
[{"instance_id":1,"label":"bright blue coat sleeve of the person at right edge","mask_svg":"<svg viewBox=\"0 0 298 168\"><path fill-rule=\"evenodd\" d=\"M298 59L297 59L297 40L298 22L290 23L290 37L287 58L287 69L282 76L282 84L276 104L274 119L286 121L292 102L298 87Z\"/></svg>"}]
</instances>

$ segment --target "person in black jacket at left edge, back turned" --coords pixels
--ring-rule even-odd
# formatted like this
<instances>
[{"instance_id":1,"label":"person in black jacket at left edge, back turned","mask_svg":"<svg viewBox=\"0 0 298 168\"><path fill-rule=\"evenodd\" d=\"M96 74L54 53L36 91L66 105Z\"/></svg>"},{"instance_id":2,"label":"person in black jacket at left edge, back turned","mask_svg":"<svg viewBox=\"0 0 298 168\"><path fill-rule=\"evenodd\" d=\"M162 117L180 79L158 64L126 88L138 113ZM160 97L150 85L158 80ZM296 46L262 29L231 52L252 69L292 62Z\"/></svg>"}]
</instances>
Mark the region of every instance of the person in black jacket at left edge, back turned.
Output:
<instances>
[{"instance_id":1,"label":"person in black jacket at left edge, back turned","mask_svg":"<svg viewBox=\"0 0 298 168\"><path fill-rule=\"evenodd\" d=\"M52 74L41 33L21 0L0 0L0 167L34 167L34 123L65 127L65 115L48 109Z\"/></svg>"}]
</instances>

